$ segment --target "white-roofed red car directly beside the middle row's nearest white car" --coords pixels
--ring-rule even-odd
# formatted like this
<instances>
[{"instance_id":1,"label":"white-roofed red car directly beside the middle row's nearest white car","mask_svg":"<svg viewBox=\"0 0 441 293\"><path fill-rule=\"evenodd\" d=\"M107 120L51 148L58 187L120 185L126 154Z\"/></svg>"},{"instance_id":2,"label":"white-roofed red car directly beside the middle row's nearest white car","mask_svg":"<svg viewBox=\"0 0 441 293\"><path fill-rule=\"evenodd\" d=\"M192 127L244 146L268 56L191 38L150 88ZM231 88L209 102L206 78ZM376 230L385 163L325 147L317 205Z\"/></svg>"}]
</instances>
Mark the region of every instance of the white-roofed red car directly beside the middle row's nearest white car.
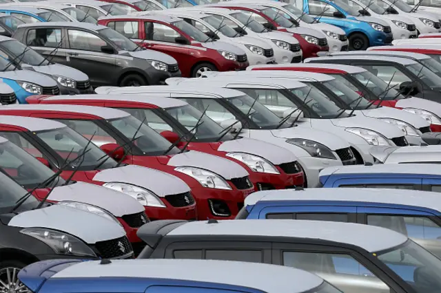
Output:
<instances>
[{"instance_id":1,"label":"white-roofed red car directly beside the middle row's nearest white car","mask_svg":"<svg viewBox=\"0 0 441 293\"><path fill-rule=\"evenodd\" d=\"M149 127L183 148L217 155L239 163L249 173L256 191L294 188L304 183L301 166L287 149L249 138L234 139L216 122L182 100L150 98L147 95L76 95L43 96L29 100L31 104L96 105L127 111ZM194 138L187 132L197 127ZM203 125L202 125L203 124ZM225 132L225 135L223 135Z\"/></svg>"}]
</instances>

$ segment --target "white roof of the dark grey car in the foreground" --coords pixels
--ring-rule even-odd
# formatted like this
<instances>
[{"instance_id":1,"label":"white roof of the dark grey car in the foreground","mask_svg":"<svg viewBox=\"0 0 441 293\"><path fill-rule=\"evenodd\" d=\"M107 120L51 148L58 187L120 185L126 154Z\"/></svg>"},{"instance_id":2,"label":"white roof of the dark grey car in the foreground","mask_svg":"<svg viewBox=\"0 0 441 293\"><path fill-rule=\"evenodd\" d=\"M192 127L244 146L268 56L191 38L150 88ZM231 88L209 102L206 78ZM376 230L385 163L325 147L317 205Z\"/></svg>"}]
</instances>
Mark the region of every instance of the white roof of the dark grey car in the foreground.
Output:
<instances>
[{"instance_id":1,"label":"white roof of the dark grey car in the foreground","mask_svg":"<svg viewBox=\"0 0 441 293\"><path fill-rule=\"evenodd\" d=\"M393 248L407 241L407 237L398 232L376 226L291 219L223 220L215 224L208 224L207 221L191 221L178 226L167 235L240 235L322 239L348 243L368 252Z\"/></svg>"}]
</instances>

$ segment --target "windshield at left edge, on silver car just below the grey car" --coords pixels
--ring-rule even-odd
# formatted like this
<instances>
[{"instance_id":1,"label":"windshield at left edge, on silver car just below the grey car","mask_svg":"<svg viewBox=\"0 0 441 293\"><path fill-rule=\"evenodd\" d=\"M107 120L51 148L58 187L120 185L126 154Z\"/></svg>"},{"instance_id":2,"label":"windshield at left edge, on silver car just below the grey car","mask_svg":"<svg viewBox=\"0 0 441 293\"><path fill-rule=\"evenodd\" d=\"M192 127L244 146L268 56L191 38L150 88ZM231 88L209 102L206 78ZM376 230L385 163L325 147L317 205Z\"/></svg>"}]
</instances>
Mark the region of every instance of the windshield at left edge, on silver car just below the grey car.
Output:
<instances>
[{"instance_id":1,"label":"windshield at left edge, on silver car just below the grey car","mask_svg":"<svg viewBox=\"0 0 441 293\"><path fill-rule=\"evenodd\" d=\"M49 65L49 61L45 60L43 56L32 50L31 47L15 40L4 41L0 43L0 48L6 52L12 53L12 58L19 58L21 63L32 66ZM24 52L24 54L23 54Z\"/></svg>"}]
</instances>

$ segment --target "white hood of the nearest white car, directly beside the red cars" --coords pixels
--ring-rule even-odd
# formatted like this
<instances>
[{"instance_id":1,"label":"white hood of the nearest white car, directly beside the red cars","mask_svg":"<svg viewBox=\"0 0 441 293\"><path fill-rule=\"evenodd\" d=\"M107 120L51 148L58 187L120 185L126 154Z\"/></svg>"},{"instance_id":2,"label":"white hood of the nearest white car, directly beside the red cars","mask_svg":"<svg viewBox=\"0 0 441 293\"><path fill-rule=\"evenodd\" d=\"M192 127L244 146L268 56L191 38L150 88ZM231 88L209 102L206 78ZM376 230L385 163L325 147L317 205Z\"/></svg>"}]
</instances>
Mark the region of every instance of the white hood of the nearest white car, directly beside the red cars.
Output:
<instances>
[{"instance_id":1,"label":"white hood of the nearest white car, directly beside the red cars","mask_svg":"<svg viewBox=\"0 0 441 293\"><path fill-rule=\"evenodd\" d=\"M271 130L271 133L276 136L276 138L302 138L305 140L314 140L315 142L327 146L332 151L349 147L349 142L346 140L325 131L311 129L307 127L307 125L302 127L274 129Z\"/></svg>"}]
</instances>

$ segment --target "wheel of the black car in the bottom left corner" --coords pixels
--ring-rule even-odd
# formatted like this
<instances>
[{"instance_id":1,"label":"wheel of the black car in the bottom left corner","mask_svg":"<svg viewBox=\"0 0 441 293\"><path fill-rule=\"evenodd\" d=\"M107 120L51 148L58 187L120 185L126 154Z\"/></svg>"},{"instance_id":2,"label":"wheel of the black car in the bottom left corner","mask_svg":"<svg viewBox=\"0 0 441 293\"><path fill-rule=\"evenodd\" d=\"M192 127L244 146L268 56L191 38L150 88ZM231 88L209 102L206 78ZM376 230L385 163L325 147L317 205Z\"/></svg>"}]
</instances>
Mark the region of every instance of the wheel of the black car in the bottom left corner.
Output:
<instances>
[{"instance_id":1,"label":"wheel of the black car in the bottom left corner","mask_svg":"<svg viewBox=\"0 0 441 293\"><path fill-rule=\"evenodd\" d=\"M0 292L32 293L17 278L17 274L25 266L21 261L0 262Z\"/></svg>"}]
</instances>

